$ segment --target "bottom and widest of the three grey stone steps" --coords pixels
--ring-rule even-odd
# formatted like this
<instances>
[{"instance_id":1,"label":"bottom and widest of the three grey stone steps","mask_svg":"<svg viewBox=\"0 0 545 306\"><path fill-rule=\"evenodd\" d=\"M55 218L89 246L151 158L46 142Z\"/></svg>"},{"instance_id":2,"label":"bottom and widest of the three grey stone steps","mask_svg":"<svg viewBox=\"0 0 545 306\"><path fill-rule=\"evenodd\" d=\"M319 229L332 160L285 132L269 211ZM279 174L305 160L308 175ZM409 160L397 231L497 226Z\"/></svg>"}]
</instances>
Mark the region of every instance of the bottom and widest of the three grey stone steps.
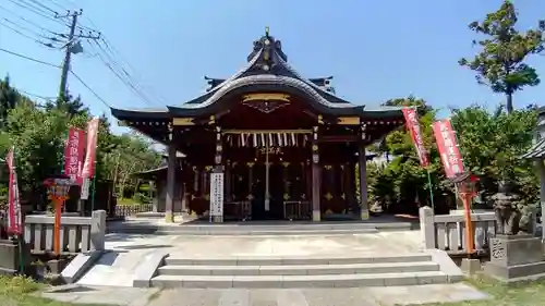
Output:
<instances>
[{"instance_id":1,"label":"bottom and widest of the three grey stone steps","mask_svg":"<svg viewBox=\"0 0 545 306\"><path fill-rule=\"evenodd\" d=\"M447 283L439 271L329 274L329 276L158 276L152 279L159 287L348 287Z\"/></svg>"}]
</instances>

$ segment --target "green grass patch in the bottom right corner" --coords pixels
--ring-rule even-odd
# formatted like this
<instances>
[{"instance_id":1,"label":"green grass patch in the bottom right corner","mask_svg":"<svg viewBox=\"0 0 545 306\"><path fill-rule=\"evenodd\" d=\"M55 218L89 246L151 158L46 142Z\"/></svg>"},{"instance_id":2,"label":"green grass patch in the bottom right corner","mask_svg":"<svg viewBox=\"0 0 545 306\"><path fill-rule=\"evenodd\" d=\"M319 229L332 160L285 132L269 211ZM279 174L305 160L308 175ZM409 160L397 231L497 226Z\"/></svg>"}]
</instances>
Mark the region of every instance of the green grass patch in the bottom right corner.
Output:
<instances>
[{"instance_id":1,"label":"green grass patch in the bottom right corner","mask_svg":"<svg viewBox=\"0 0 545 306\"><path fill-rule=\"evenodd\" d=\"M504 284L485 277L470 279L475 286L491 298L460 303L426 304L426 306L543 306L545 305L545 279L538 281Z\"/></svg>"}]
</instances>

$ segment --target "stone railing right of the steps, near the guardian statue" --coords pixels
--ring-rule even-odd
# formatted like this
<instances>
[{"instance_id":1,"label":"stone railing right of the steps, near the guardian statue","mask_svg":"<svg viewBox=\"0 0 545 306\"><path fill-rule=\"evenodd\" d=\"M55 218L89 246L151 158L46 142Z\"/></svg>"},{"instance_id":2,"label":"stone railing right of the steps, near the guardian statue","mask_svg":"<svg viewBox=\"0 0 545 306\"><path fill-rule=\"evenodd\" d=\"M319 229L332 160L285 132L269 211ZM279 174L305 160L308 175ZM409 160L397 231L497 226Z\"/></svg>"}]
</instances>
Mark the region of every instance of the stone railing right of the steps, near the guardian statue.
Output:
<instances>
[{"instance_id":1,"label":"stone railing right of the steps, near the guardian statue","mask_svg":"<svg viewBox=\"0 0 545 306\"><path fill-rule=\"evenodd\" d=\"M496 235L496 218L493 211L474 212L475 249L483 250ZM420 209L420 227L425 248L438 248L450 255L465 253L465 216L463 213L437 215L429 207Z\"/></svg>"}]
</instances>

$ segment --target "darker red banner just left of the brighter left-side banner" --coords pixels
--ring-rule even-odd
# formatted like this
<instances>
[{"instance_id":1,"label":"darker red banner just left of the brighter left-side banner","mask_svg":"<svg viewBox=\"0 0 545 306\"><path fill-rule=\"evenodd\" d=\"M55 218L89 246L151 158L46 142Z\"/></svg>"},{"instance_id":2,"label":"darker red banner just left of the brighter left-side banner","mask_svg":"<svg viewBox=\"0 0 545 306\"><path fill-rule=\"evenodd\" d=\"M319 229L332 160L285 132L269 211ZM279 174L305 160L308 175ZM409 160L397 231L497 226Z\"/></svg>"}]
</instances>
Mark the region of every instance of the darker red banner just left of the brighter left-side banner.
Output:
<instances>
[{"instance_id":1,"label":"darker red banner just left of the brighter left-side banner","mask_svg":"<svg viewBox=\"0 0 545 306\"><path fill-rule=\"evenodd\" d=\"M64 174L77 185L82 184L82 166L85 155L85 131L70 127L64 146Z\"/></svg>"}]
</instances>

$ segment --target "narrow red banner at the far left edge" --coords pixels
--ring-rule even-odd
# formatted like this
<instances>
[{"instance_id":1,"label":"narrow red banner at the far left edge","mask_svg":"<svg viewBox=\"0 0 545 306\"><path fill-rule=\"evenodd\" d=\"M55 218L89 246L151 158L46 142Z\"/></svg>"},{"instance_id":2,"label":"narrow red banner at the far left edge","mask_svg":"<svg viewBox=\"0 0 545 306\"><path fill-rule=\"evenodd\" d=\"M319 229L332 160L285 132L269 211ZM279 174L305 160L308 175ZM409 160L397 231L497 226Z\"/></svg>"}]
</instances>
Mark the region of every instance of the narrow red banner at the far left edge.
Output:
<instances>
[{"instance_id":1,"label":"narrow red banner at the far left edge","mask_svg":"<svg viewBox=\"0 0 545 306\"><path fill-rule=\"evenodd\" d=\"M8 232L19 235L22 233L21 203L19 200L17 173L15 172L14 148L8 151L5 161L10 170L10 181L8 191Z\"/></svg>"}]
</instances>

